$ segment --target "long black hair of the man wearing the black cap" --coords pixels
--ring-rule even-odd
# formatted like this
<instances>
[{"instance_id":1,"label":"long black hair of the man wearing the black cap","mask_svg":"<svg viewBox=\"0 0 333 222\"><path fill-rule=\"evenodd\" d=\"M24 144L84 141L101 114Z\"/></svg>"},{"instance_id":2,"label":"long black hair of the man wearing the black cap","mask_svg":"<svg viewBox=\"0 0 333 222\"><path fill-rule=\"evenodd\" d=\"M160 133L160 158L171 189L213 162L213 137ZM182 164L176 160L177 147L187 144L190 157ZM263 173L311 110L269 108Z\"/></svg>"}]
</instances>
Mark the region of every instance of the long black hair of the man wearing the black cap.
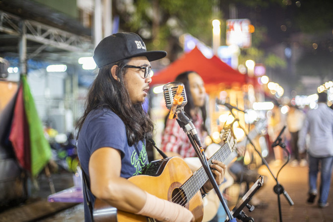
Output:
<instances>
[{"instance_id":1,"label":"long black hair of the man wearing the black cap","mask_svg":"<svg viewBox=\"0 0 333 222\"><path fill-rule=\"evenodd\" d=\"M107 108L116 113L124 122L127 133L127 142L130 146L143 139L151 139L154 125L149 116L144 112L141 103L133 103L129 92L124 85L124 66L130 59L121 60L103 66L99 69L93 81L87 100L83 116L78 120L76 128L80 132L83 122L89 112L96 108ZM118 80L111 74L111 68L117 65L116 71ZM77 134L78 135L78 134Z\"/></svg>"}]
</instances>

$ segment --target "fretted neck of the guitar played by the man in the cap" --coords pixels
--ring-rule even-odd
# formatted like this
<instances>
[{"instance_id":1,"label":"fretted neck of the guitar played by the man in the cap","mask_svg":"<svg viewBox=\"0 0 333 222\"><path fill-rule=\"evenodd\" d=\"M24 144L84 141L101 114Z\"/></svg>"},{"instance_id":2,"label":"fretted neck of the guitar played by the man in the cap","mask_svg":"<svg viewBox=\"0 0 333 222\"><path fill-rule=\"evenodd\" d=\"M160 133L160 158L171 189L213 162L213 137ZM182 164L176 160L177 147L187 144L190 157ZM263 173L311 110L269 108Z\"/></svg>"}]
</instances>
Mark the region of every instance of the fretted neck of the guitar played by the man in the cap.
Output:
<instances>
[{"instance_id":1,"label":"fretted neck of the guitar played by the man in the cap","mask_svg":"<svg viewBox=\"0 0 333 222\"><path fill-rule=\"evenodd\" d=\"M219 148L208 160L208 165L211 164L212 159L222 161L224 164L230 163L237 156L236 151L231 151L229 145L226 143L221 148ZM191 200L192 197L200 190L202 185L208 180L208 175L201 166L193 176L186 181L180 188L186 193L188 200Z\"/></svg>"}]
</instances>

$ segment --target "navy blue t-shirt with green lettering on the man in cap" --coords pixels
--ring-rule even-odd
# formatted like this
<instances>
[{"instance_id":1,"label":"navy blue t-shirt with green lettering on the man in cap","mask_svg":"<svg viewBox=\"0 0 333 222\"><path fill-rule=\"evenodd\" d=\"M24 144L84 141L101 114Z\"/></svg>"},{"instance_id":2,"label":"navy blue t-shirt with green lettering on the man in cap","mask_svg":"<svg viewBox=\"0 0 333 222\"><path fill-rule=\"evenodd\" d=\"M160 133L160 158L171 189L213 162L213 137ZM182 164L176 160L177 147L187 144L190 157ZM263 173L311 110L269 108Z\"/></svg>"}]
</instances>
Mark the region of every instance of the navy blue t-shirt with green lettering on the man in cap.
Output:
<instances>
[{"instance_id":1,"label":"navy blue t-shirt with green lettering on the man in cap","mask_svg":"<svg viewBox=\"0 0 333 222\"><path fill-rule=\"evenodd\" d=\"M77 154L83 171L89 177L89 159L99 148L111 147L121 151L121 177L129 178L141 173L148 164L145 142L129 146L124 122L114 112L106 108L92 110L86 117L77 141ZM89 178L90 180L90 178ZM90 193L90 192L89 192ZM91 202L95 198L90 193ZM90 213L84 200L85 221L90 220Z\"/></svg>"}]
</instances>

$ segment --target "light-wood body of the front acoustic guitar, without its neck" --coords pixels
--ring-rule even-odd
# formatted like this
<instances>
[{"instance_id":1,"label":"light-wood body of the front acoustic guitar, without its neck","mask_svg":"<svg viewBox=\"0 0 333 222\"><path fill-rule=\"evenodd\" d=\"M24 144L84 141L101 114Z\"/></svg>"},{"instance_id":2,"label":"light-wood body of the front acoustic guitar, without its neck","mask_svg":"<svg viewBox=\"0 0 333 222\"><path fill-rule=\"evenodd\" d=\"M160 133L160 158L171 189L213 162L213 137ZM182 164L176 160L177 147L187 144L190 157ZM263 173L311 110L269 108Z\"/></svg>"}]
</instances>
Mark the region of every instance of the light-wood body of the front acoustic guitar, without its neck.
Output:
<instances>
[{"instance_id":1,"label":"light-wood body of the front acoustic guitar, without its neck","mask_svg":"<svg viewBox=\"0 0 333 222\"><path fill-rule=\"evenodd\" d=\"M171 157L158 160L159 168L154 175L137 175L128 180L146 192L158 198L179 203L189 209L195 216L196 222L201 222L203 217L202 198L200 191L188 200L188 197L180 187L190 178L193 173L186 162L180 157ZM181 200L175 201L176 195L182 196ZM149 222L154 221L140 215L117 210L106 202L96 199L94 205L95 222Z\"/></svg>"}]
</instances>

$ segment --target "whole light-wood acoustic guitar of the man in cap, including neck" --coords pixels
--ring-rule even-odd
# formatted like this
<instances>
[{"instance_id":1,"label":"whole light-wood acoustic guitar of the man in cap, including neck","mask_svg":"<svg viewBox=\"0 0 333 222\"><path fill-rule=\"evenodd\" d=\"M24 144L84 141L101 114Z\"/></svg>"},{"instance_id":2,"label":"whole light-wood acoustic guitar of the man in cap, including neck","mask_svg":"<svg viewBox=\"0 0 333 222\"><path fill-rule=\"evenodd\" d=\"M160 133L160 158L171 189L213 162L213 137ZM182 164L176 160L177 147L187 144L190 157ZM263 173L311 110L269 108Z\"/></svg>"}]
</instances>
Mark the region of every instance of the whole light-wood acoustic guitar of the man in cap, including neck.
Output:
<instances>
[{"instance_id":1,"label":"whole light-wood acoustic guitar of the man in cap, including neck","mask_svg":"<svg viewBox=\"0 0 333 222\"><path fill-rule=\"evenodd\" d=\"M225 144L207 160L211 159L231 162L236 156L236 139L231 130L223 134ZM202 198L200 188L208 180L208 176L201 166L192 173L184 159L169 157L150 162L142 170L143 174L130 177L128 180L146 192L158 198L180 204L189 209L196 222L201 222L203 217ZM96 199L93 209L95 222L155 222L155 219L141 215L131 214L117 210L106 202Z\"/></svg>"}]
</instances>

